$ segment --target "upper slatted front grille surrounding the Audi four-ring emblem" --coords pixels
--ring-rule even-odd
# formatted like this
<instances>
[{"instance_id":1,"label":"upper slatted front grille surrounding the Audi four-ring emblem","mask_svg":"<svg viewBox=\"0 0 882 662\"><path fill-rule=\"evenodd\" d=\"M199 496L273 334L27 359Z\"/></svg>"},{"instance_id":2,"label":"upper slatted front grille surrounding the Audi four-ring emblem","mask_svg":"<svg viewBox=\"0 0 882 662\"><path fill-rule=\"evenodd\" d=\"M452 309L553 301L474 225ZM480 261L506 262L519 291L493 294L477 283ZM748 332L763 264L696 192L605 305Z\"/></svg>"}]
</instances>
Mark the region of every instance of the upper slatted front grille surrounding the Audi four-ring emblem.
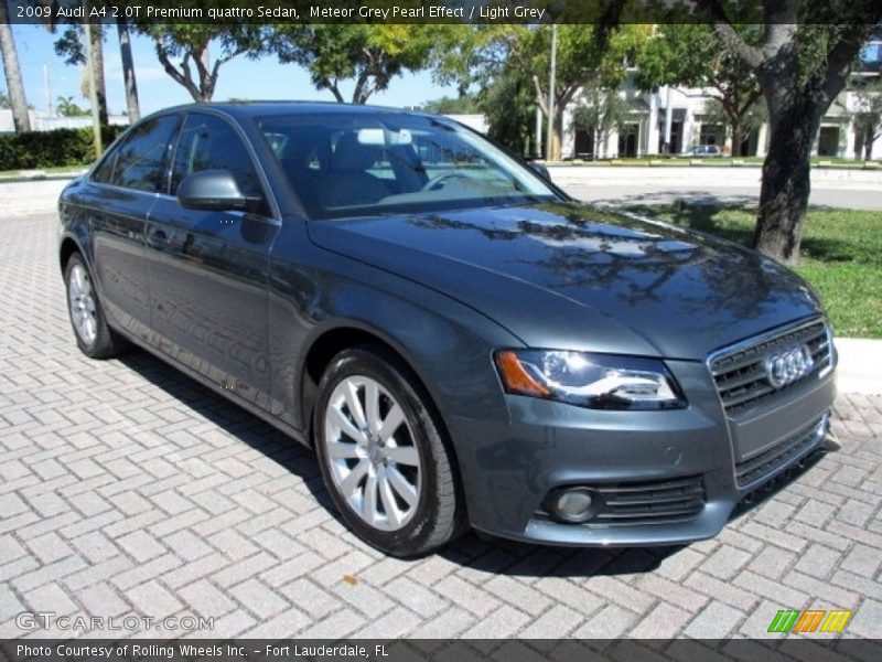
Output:
<instances>
[{"instance_id":1,"label":"upper slatted front grille surrounding the Audi four-ring emblem","mask_svg":"<svg viewBox=\"0 0 882 662\"><path fill-rule=\"evenodd\" d=\"M765 359L772 352L794 345L808 345L814 366L804 377L781 388L775 388L766 373ZM711 374L728 414L753 406L777 393L784 393L795 384L828 369L831 362L830 334L827 324L817 320L797 329L784 331L771 338L723 351L710 362Z\"/></svg>"}]
</instances>

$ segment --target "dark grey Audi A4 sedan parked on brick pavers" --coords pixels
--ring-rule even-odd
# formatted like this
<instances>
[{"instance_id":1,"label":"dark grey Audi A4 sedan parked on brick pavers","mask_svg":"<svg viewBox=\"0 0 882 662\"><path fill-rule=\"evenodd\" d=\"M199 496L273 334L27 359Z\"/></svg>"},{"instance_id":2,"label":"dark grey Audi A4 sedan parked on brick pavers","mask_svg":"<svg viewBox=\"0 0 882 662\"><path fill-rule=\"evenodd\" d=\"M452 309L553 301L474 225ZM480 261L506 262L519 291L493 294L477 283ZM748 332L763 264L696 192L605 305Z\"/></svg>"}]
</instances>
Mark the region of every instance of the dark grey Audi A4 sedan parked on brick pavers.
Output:
<instances>
[{"instance_id":1,"label":"dark grey Audi A4 sedan parked on brick pavers","mask_svg":"<svg viewBox=\"0 0 882 662\"><path fill-rule=\"evenodd\" d=\"M441 117L191 106L60 201L87 355L135 342L313 446L366 542L716 535L825 442L822 308L757 253L570 200Z\"/></svg>"}]
</instances>

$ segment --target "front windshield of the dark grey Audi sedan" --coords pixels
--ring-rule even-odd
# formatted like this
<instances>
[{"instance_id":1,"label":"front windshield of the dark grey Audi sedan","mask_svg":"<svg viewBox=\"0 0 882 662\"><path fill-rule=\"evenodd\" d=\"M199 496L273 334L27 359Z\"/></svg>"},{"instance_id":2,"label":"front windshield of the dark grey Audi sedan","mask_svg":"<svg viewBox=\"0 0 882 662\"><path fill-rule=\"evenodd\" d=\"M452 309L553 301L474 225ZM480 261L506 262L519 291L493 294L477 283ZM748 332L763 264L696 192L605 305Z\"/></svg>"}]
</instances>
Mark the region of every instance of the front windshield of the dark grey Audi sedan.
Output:
<instances>
[{"instance_id":1,"label":"front windshield of the dark grey Audi sedan","mask_svg":"<svg viewBox=\"0 0 882 662\"><path fill-rule=\"evenodd\" d=\"M257 124L312 218L558 199L530 169L441 118L326 113Z\"/></svg>"}]
</instances>

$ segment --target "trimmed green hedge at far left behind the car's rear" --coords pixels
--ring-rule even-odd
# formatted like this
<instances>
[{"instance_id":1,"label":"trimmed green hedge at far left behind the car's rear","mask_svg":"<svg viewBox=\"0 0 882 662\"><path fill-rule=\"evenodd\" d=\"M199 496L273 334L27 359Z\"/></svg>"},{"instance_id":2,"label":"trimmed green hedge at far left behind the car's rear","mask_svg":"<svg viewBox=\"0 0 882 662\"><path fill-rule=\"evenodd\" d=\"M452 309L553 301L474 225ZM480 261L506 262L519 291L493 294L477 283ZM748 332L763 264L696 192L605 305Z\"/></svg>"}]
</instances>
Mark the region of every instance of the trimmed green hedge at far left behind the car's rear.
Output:
<instances>
[{"instance_id":1,"label":"trimmed green hedge at far left behind the car's rear","mask_svg":"<svg viewBox=\"0 0 882 662\"><path fill-rule=\"evenodd\" d=\"M104 146L110 145L127 128L101 127ZM88 166L94 160L92 127L0 136L0 171Z\"/></svg>"}]
</instances>

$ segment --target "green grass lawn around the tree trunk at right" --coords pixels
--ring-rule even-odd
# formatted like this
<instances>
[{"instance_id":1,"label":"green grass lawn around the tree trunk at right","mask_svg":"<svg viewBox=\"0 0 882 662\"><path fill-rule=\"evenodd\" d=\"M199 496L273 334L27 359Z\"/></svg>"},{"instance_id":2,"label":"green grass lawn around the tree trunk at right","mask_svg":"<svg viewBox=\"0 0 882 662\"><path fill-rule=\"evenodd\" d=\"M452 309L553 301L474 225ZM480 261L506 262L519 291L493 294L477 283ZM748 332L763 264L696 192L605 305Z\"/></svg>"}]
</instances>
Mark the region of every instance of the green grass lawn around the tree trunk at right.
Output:
<instances>
[{"instance_id":1,"label":"green grass lawn around the tree trunk at right","mask_svg":"<svg viewBox=\"0 0 882 662\"><path fill-rule=\"evenodd\" d=\"M628 207L750 245L756 207ZM809 207L796 270L818 291L837 335L882 339L882 213Z\"/></svg>"}]
</instances>

